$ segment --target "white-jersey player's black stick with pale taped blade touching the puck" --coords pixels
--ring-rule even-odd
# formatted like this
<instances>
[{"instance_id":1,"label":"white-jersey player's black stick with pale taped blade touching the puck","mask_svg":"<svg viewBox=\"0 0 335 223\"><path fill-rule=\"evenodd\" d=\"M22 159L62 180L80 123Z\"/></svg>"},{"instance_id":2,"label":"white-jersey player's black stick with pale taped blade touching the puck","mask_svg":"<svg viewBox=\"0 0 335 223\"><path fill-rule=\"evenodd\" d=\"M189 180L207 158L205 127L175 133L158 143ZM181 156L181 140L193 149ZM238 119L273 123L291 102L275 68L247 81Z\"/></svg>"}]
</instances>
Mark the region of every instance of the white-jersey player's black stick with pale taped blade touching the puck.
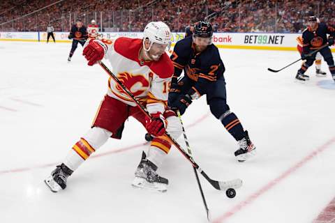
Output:
<instances>
[{"instance_id":1,"label":"white-jersey player's black stick with pale taped blade touching the puck","mask_svg":"<svg viewBox=\"0 0 335 223\"><path fill-rule=\"evenodd\" d=\"M149 112L147 111L147 109L135 98L135 96L133 95L133 93L131 93L131 91L129 91L127 89L126 86L124 86L124 84L119 80L119 78L117 78L117 76L115 76L112 71L110 71L109 68L107 68L107 66L105 66L105 64L103 62L99 62L101 68L103 68L103 70L105 70L105 72L107 72L108 75L110 75L110 77L112 77L112 79L114 79L115 82L117 82L117 84L119 84L119 86L121 86L122 89L124 89L124 91L129 95L129 97L131 97L131 99L133 100L133 102L135 102L135 104L137 105L137 107L145 114L145 116L151 118ZM172 144L174 144L174 146L176 146L176 148L180 151L180 153L182 155L184 155L184 157L186 157L186 159L191 162L191 164L193 165L193 167L195 169L197 169L197 171L200 172L200 174L202 174L202 176L204 176L204 178L216 189L216 190L225 190L226 194L228 197L232 198L235 197L235 190L234 188L239 188L242 185L242 180L241 179L234 179L234 180L228 180L228 181L218 181L218 180L212 180L211 178L209 178L209 176L207 176L207 174L199 167L199 165L193 160L193 157L191 157L190 155L188 155L188 153L186 153L184 151L183 148L181 148L181 146L179 146L179 144L177 143L177 141L175 141L172 137L170 137L170 135L168 133L165 132L165 136L168 137L168 139L170 139L170 141L172 142Z\"/></svg>"}]
</instances>

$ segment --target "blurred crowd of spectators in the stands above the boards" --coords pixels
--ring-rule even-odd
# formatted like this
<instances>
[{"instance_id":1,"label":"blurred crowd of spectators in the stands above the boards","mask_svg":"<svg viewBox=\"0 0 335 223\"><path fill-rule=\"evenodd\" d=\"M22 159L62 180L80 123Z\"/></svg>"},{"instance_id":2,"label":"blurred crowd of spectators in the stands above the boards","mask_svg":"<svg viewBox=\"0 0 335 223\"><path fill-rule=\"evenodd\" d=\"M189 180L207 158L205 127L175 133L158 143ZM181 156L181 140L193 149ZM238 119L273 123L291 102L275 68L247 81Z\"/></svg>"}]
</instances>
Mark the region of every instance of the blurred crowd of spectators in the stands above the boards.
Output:
<instances>
[{"instance_id":1,"label":"blurred crowd of spectators in the stands above the boards","mask_svg":"<svg viewBox=\"0 0 335 223\"><path fill-rule=\"evenodd\" d=\"M3 0L0 8L0 31L44 31L49 22L55 31L68 31L78 18L96 20L103 31L142 31L161 20L182 32L206 18L218 32L297 33L308 15L335 26L335 1L329 0Z\"/></svg>"}]
</instances>

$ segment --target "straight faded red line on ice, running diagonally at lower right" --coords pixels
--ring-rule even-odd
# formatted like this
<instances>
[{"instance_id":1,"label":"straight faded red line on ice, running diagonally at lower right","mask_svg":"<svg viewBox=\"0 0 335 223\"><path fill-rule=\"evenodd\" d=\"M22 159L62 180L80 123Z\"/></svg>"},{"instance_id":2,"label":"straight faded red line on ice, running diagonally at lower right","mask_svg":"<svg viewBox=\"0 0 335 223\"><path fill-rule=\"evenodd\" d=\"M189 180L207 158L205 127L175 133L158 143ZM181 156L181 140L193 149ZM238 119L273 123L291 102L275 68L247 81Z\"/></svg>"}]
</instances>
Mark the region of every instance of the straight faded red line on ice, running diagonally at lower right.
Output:
<instances>
[{"instance_id":1,"label":"straight faded red line on ice, running diagonally at lower right","mask_svg":"<svg viewBox=\"0 0 335 223\"><path fill-rule=\"evenodd\" d=\"M303 167L304 164L306 164L308 161L312 160L316 155L318 155L318 154L322 153L323 151L325 151L326 148L329 148L329 146L331 146L334 143L335 143L335 137L333 139L330 139L329 141L327 141L322 146L319 146L318 148L316 148L312 153L310 153L309 155L307 155L306 157L304 157L302 160L300 160L299 162L297 162L297 164L295 164L292 167L290 167L288 170L286 170L285 172L283 172L283 174L281 174L280 176L278 176L274 180L271 180L269 183L267 183L267 185L265 185L262 188L260 188L260 190L258 190L255 193L251 194L244 201L241 201L236 206L234 206L230 210L228 210L226 213L224 213L223 215L217 217L216 220L214 220L214 222L215 223L225 222L225 220L228 220L228 218L230 218L230 217L232 217L232 215L238 213L241 209L243 209L246 206L248 206L248 204L253 203L253 201L255 201L256 199L258 199L262 194L265 194L265 192L271 190L272 187L274 187L279 182L281 182L282 180L284 180L285 178L287 178L288 176L290 176L290 174L292 174L294 171L296 171L300 167Z\"/></svg>"}]
</instances>

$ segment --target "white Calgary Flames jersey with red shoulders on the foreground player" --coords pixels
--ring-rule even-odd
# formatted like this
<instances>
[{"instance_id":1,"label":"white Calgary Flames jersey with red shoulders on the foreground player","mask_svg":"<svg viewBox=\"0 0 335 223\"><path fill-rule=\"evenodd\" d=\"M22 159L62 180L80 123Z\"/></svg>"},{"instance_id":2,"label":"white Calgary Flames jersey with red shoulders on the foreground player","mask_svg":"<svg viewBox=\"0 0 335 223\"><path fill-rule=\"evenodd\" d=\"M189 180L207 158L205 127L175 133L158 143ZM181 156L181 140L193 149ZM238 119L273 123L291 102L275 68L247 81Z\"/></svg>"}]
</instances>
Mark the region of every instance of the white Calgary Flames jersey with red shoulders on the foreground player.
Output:
<instances>
[{"instance_id":1,"label":"white Calgary Flames jersey with red shoulders on the foreground player","mask_svg":"<svg viewBox=\"0 0 335 223\"><path fill-rule=\"evenodd\" d=\"M103 43L107 45L105 59L110 61L114 75L140 102L147 104L150 114L163 114L168 106L168 93L174 72L168 54L164 53L159 61L140 61L138 57L142 49L142 39L120 37L114 42L103 40ZM108 80L107 95L127 105L136 106L112 78Z\"/></svg>"}]
</instances>

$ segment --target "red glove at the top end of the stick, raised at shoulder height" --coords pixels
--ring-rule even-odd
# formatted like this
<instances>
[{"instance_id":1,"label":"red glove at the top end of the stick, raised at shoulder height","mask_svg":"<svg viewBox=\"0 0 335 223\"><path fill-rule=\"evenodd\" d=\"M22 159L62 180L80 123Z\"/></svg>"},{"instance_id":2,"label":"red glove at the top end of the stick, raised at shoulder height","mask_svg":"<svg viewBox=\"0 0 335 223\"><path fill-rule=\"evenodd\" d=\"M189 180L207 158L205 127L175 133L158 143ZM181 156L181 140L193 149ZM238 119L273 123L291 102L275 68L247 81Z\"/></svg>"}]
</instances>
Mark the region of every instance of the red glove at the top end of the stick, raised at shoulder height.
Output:
<instances>
[{"instance_id":1,"label":"red glove at the top end of the stick, raised at shoulder height","mask_svg":"<svg viewBox=\"0 0 335 223\"><path fill-rule=\"evenodd\" d=\"M89 45L84 48L82 55L85 56L88 65L92 66L94 63L101 61L107 51L107 46L99 40L89 40Z\"/></svg>"}]
</instances>

